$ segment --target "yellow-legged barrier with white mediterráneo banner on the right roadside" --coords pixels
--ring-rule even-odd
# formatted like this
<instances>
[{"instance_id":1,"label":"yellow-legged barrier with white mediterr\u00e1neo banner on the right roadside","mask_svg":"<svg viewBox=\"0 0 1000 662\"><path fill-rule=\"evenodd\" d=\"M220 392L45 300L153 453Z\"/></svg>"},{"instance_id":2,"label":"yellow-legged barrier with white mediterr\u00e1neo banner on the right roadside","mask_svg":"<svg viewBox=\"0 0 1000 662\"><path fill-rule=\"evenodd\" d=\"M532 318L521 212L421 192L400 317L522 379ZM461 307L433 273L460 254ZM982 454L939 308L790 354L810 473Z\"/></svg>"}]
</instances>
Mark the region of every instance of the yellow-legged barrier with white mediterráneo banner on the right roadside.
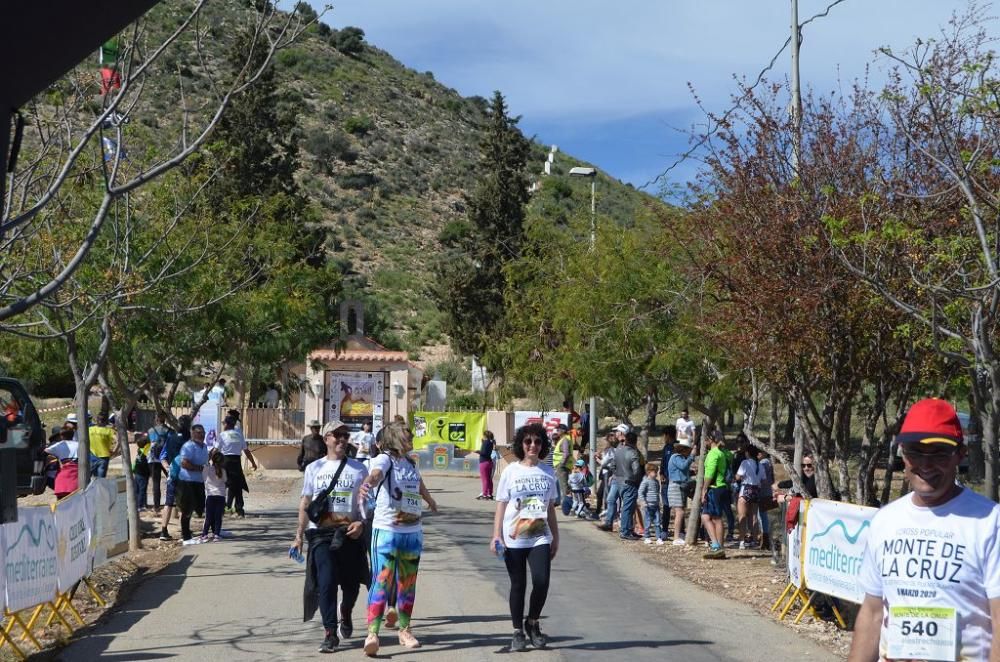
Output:
<instances>
[{"instance_id":1,"label":"yellow-legged barrier with white mediterr\u00e1neo banner on the right roadside","mask_svg":"<svg viewBox=\"0 0 1000 662\"><path fill-rule=\"evenodd\" d=\"M817 594L855 604L864 601L857 579L877 512L877 508L826 499L801 502L798 522L788 533L788 585L771 606L772 612L780 610L779 619L796 606L796 623L809 611L815 617ZM832 608L837 622L846 628L836 604Z\"/></svg>"}]
</instances>

